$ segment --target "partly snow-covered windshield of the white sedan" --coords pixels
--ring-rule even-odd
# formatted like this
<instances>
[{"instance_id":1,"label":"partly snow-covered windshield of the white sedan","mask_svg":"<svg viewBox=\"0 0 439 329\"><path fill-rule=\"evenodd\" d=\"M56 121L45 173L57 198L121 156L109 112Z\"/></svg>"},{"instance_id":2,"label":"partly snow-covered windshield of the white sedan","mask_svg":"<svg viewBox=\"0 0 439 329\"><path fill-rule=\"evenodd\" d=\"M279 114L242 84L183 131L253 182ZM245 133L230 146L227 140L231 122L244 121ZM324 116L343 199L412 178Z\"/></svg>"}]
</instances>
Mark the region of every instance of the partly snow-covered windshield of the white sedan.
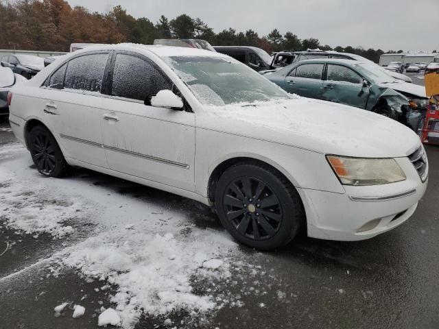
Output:
<instances>
[{"instance_id":1,"label":"partly snow-covered windshield of the white sedan","mask_svg":"<svg viewBox=\"0 0 439 329\"><path fill-rule=\"evenodd\" d=\"M167 62L204 105L288 98L281 88L237 60L175 56L167 58Z\"/></svg>"}]
</instances>

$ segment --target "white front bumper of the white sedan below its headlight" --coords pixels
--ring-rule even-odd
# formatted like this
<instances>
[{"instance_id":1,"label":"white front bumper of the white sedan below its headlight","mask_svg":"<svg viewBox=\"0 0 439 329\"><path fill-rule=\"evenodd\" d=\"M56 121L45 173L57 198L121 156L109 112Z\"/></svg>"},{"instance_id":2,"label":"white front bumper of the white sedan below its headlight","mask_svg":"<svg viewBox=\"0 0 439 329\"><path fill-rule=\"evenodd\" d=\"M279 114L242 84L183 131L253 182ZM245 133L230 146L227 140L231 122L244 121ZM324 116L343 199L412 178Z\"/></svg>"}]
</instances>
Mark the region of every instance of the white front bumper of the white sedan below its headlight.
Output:
<instances>
[{"instance_id":1,"label":"white front bumper of the white sedan below its headlight","mask_svg":"<svg viewBox=\"0 0 439 329\"><path fill-rule=\"evenodd\" d=\"M401 225L416 210L427 181L408 158L395 159L407 180L377 186L344 186L346 193L298 188L308 236L337 241L370 239Z\"/></svg>"}]
</instances>

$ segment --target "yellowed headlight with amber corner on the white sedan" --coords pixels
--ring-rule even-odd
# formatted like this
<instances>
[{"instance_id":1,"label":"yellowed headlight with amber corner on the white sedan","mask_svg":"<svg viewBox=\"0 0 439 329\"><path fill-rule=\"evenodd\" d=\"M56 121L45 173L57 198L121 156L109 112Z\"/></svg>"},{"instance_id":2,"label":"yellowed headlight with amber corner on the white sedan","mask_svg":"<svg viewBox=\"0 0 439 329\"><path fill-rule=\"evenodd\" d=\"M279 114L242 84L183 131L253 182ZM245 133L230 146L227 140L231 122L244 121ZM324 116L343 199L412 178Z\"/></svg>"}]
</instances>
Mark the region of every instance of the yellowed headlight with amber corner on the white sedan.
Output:
<instances>
[{"instance_id":1,"label":"yellowed headlight with amber corner on the white sedan","mask_svg":"<svg viewBox=\"0 0 439 329\"><path fill-rule=\"evenodd\" d=\"M344 185L379 185L405 180L405 174L392 158L347 158L327 156L329 164Z\"/></svg>"}]
</instances>

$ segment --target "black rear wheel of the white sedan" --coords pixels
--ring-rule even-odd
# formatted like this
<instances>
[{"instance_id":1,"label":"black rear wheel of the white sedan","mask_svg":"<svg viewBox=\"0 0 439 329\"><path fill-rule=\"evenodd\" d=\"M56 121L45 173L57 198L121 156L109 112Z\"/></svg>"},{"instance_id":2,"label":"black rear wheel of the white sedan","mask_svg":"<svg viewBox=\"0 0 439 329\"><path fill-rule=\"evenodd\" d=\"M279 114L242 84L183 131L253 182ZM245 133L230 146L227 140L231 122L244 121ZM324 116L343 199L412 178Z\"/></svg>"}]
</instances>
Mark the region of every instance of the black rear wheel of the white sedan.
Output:
<instances>
[{"instance_id":1,"label":"black rear wheel of the white sedan","mask_svg":"<svg viewBox=\"0 0 439 329\"><path fill-rule=\"evenodd\" d=\"M36 169L42 175L62 177L69 171L69 164L62 155L56 139L43 125L32 128L27 136L27 146Z\"/></svg>"}]
</instances>

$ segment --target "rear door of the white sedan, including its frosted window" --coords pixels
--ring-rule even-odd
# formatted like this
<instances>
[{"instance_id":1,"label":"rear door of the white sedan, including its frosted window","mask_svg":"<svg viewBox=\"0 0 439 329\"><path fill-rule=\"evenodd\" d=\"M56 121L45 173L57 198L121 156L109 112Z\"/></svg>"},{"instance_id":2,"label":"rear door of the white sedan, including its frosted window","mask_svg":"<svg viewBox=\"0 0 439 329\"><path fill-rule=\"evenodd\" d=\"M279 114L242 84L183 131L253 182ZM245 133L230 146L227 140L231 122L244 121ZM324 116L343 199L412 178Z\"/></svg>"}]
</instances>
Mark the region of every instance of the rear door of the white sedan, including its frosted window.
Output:
<instances>
[{"instance_id":1,"label":"rear door of the white sedan, including its frosted window","mask_svg":"<svg viewBox=\"0 0 439 329\"><path fill-rule=\"evenodd\" d=\"M102 81L108 52L86 53L60 66L45 82L44 115L65 154L107 168L101 136Z\"/></svg>"}]
</instances>

